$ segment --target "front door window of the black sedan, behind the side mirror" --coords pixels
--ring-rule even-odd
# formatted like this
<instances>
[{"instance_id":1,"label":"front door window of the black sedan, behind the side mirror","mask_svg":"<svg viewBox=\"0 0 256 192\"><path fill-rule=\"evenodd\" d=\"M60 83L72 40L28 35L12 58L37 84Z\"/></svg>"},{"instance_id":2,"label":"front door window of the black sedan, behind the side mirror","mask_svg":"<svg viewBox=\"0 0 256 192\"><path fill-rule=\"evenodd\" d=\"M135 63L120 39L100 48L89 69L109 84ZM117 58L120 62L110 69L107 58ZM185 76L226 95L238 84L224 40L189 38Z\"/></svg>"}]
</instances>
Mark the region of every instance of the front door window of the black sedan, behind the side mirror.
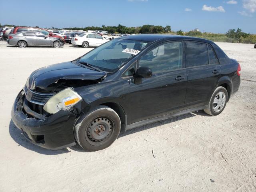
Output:
<instances>
[{"instance_id":1,"label":"front door window of the black sedan, behind the side mirror","mask_svg":"<svg viewBox=\"0 0 256 192\"><path fill-rule=\"evenodd\" d=\"M182 42L170 42L154 48L140 59L138 67L141 66L151 68L153 74L182 68Z\"/></svg>"}]
</instances>

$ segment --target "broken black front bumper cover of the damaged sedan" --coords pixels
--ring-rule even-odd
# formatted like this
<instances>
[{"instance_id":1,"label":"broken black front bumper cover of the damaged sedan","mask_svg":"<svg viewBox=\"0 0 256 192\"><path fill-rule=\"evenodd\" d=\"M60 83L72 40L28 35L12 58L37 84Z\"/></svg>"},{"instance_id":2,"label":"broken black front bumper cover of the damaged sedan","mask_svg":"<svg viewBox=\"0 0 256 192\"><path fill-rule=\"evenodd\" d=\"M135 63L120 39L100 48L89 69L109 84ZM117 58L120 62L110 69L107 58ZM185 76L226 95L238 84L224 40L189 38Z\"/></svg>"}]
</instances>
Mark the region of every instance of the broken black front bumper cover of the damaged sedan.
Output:
<instances>
[{"instance_id":1,"label":"broken black front bumper cover of the damaged sedan","mask_svg":"<svg viewBox=\"0 0 256 192\"><path fill-rule=\"evenodd\" d=\"M75 114L60 110L44 119L29 118L23 112L24 99L24 91L21 91L12 107L12 121L30 142L47 149L61 149L76 144L73 134Z\"/></svg>"}]
</instances>

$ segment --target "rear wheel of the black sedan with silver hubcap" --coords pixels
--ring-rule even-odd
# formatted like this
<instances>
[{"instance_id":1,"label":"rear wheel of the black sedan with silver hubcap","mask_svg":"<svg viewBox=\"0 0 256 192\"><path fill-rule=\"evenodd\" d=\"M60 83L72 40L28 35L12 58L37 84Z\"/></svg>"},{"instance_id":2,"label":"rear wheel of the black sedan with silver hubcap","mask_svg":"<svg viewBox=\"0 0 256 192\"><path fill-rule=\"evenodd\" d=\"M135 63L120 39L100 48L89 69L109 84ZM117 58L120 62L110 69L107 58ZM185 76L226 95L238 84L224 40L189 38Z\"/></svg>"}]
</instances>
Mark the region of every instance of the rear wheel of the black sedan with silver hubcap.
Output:
<instances>
[{"instance_id":1,"label":"rear wheel of the black sedan with silver hubcap","mask_svg":"<svg viewBox=\"0 0 256 192\"><path fill-rule=\"evenodd\" d=\"M221 92L222 92L222 95L225 95L225 98L220 98L219 94ZM219 100L218 104L215 102L215 99L216 101ZM207 108L204 109L204 112L206 112L209 115L216 116L224 110L227 102L228 102L227 90L224 87L217 87L216 90L213 92L212 97L210 98Z\"/></svg>"}]
</instances>

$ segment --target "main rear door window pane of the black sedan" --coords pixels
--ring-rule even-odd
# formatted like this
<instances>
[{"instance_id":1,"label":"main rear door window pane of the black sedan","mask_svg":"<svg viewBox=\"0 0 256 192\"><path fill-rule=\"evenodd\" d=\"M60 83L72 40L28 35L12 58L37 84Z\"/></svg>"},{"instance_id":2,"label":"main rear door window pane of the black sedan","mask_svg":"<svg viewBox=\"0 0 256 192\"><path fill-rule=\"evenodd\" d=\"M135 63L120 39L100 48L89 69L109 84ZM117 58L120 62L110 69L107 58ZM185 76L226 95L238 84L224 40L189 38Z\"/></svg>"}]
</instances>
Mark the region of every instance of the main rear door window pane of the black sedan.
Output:
<instances>
[{"instance_id":1,"label":"main rear door window pane of the black sedan","mask_svg":"<svg viewBox=\"0 0 256 192\"><path fill-rule=\"evenodd\" d=\"M208 65L207 45L196 42L186 42L186 67Z\"/></svg>"}]
</instances>

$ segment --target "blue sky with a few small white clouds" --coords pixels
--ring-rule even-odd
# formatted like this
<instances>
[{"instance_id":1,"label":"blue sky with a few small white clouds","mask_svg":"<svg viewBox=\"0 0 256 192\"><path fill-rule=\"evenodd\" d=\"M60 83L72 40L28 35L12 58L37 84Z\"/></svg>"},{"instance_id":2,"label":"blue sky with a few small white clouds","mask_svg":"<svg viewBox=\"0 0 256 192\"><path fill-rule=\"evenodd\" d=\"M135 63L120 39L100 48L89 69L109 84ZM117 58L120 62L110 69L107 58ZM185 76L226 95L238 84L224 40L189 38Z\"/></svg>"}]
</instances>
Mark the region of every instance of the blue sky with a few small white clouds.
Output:
<instances>
[{"instance_id":1,"label":"blue sky with a few small white clouds","mask_svg":"<svg viewBox=\"0 0 256 192\"><path fill-rule=\"evenodd\" d=\"M6 4L7 3L7 4ZM256 34L256 0L0 0L1 24L40 27L168 25Z\"/></svg>"}]
</instances>

